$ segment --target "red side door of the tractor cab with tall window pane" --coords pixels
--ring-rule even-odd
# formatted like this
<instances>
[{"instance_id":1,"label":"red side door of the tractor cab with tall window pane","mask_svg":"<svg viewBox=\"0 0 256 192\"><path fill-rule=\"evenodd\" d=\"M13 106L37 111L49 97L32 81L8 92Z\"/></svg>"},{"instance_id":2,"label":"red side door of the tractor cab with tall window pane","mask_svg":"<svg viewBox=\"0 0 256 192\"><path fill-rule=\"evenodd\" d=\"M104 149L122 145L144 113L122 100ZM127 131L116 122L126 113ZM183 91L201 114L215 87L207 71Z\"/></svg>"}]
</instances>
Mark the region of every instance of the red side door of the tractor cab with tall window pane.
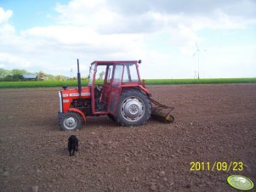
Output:
<instances>
[{"instance_id":1,"label":"red side door of the tractor cab with tall window pane","mask_svg":"<svg viewBox=\"0 0 256 192\"><path fill-rule=\"evenodd\" d=\"M117 104L122 92L123 65L114 65L114 74L111 79L111 91L109 97L108 111L115 116Z\"/></svg>"}]
</instances>

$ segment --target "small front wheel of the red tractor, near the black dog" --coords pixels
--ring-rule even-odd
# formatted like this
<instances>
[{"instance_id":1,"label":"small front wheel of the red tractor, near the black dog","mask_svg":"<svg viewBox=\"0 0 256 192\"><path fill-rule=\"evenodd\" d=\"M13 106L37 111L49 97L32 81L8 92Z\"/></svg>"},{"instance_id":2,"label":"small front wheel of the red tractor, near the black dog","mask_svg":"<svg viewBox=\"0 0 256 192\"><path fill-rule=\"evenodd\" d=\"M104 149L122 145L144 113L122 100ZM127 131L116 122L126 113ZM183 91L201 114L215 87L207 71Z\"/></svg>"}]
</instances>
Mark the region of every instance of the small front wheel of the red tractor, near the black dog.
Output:
<instances>
[{"instance_id":1,"label":"small front wheel of the red tractor, near the black dog","mask_svg":"<svg viewBox=\"0 0 256 192\"><path fill-rule=\"evenodd\" d=\"M60 117L59 125L63 131L74 131L82 126L82 118L76 112L69 111Z\"/></svg>"}]
</instances>

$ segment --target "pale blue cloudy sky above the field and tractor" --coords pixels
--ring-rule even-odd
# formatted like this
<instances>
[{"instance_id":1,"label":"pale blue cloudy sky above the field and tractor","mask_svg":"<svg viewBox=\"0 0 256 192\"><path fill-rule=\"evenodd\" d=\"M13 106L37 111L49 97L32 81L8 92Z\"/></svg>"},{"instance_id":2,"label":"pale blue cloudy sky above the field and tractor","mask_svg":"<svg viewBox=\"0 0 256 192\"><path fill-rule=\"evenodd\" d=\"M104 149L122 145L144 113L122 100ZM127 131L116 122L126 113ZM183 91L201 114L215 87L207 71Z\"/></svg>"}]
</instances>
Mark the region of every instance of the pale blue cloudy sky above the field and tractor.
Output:
<instances>
[{"instance_id":1,"label":"pale blue cloudy sky above the field and tractor","mask_svg":"<svg viewBox=\"0 0 256 192\"><path fill-rule=\"evenodd\" d=\"M0 68L75 76L77 59L82 76L141 59L142 78L256 77L256 0L0 0Z\"/></svg>"}]
</instances>

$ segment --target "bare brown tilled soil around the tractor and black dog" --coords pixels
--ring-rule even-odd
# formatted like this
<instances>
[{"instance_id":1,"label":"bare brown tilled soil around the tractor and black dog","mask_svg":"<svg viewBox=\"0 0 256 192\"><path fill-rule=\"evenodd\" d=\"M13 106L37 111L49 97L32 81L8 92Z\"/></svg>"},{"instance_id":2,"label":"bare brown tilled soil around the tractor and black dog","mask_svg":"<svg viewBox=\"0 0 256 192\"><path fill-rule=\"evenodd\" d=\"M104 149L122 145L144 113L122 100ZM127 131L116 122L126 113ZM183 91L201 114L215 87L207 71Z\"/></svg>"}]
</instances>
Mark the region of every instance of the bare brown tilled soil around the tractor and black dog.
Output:
<instances>
[{"instance_id":1,"label":"bare brown tilled soil around the tractor and black dog","mask_svg":"<svg viewBox=\"0 0 256 192\"><path fill-rule=\"evenodd\" d=\"M231 174L256 183L256 83L148 88L175 107L174 123L88 117L73 133L58 127L58 88L1 89L0 191L237 191ZM72 157L71 134L80 142ZM191 172L191 161L244 165Z\"/></svg>"}]
</instances>

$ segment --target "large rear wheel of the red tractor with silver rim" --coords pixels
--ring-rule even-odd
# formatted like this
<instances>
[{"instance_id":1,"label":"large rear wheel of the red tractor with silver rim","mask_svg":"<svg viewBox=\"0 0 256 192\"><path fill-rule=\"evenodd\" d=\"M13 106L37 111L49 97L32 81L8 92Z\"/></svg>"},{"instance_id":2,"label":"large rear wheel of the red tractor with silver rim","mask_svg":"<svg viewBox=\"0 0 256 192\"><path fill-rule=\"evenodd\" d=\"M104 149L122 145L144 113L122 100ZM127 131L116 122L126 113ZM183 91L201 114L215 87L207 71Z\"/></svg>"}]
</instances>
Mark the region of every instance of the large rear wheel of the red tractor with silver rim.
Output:
<instances>
[{"instance_id":1,"label":"large rear wheel of the red tractor with silver rim","mask_svg":"<svg viewBox=\"0 0 256 192\"><path fill-rule=\"evenodd\" d=\"M151 101L139 89L122 92L117 105L117 122L122 126L145 124L151 116Z\"/></svg>"}]
</instances>

